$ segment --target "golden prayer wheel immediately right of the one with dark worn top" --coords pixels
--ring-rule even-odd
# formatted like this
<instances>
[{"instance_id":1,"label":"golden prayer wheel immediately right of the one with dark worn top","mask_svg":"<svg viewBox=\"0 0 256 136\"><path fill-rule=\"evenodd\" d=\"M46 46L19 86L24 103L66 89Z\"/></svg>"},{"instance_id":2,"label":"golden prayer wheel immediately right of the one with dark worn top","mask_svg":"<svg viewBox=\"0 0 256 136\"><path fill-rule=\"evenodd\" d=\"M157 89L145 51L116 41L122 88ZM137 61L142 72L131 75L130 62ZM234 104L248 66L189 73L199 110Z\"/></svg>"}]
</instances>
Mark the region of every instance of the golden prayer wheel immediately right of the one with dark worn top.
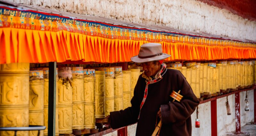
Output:
<instances>
[{"instance_id":1,"label":"golden prayer wheel immediately right of the one with dark worn top","mask_svg":"<svg viewBox=\"0 0 256 136\"><path fill-rule=\"evenodd\" d=\"M72 67L72 129L84 129L84 69Z\"/></svg>"}]
</instances>

